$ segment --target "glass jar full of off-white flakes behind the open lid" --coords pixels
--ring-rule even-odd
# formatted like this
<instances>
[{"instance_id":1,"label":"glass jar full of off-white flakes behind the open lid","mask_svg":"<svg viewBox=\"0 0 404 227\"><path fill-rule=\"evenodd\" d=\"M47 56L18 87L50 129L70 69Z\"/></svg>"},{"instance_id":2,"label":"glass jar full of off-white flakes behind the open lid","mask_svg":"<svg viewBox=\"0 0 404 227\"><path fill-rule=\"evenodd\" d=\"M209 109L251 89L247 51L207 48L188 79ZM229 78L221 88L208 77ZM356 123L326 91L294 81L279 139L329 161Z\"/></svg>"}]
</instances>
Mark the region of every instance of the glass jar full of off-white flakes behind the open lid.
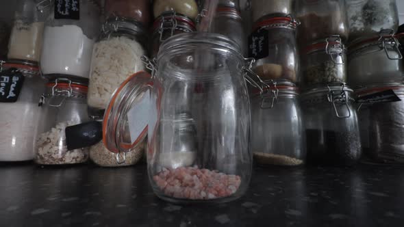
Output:
<instances>
[{"instance_id":1,"label":"glass jar full of off-white flakes behind the open lid","mask_svg":"<svg viewBox=\"0 0 404 227\"><path fill-rule=\"evenodd\" d=\"M107 21L94 44L87 103L92 118L102 118L112 93L125 79L144 70L140 57L146 54L144 29L140 23Z\"/></svg>"}]
</instances>

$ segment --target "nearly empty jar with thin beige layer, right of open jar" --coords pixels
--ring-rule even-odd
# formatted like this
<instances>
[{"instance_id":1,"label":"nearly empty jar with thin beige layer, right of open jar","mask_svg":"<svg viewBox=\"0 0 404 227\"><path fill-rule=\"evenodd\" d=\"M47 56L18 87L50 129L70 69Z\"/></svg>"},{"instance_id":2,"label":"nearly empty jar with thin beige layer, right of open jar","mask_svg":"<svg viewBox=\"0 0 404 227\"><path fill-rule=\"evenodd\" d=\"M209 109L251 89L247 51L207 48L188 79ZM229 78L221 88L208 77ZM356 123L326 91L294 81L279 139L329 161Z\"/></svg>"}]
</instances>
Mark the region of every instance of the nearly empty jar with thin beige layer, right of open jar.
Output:
<instances>
[{"instance_id":1,"label":"nearly empty jar with thin beige layer, right of open jar","mask_svg":"<svg viewBox=\"0 0 404 227\"><path fill-rule=\"evenodd\" d=\"M265 82L267 90L250 92L254 160L264 165L301 165L306 152L299 89L290 82Z\"/></svg>"}]
</instances>

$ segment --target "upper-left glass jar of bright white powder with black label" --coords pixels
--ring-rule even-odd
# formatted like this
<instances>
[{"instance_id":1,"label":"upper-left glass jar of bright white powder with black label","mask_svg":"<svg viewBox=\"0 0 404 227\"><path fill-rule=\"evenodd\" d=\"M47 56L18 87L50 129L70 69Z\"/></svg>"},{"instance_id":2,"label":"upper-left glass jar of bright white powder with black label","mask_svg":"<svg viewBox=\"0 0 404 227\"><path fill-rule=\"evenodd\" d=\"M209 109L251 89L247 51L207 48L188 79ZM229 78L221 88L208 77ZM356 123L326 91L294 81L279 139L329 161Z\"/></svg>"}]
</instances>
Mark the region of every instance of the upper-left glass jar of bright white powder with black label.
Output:
<instances>
[{"instance_id":1,"label":"upper-left glass jar of bright white powder with black label","mask_svg":"<svg viewBox=\"0 0 404 227\"><path fill-rule=\"evenodd\" d=\"M87 82L92 46L99 36L98 1L79 0L79 5L72 3L68 7L51 1L48 7L51 16L45 23L43 35L42 74L49 79L62 77Z\"/></svg>"}]
</instances>

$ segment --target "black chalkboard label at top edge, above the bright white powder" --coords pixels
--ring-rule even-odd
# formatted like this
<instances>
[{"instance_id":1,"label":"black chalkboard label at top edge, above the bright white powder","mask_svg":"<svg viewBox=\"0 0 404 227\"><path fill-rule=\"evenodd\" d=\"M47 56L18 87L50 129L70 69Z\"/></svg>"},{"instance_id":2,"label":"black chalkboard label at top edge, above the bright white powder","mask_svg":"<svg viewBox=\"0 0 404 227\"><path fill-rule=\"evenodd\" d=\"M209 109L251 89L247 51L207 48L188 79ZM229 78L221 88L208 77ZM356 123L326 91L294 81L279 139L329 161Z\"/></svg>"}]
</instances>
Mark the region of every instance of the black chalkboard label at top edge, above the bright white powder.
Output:
<instances>
[{"instance_id":1,"label":"black chalkboard label at top edge, above the bright white powder","mask_svg":"<svg viewBox=\"0 0 404 227\"><path fill-rule=\"evenodd\" d=\"M55 0L55 19L80 19L79 0Z\"/></svg>"}]
</instances>

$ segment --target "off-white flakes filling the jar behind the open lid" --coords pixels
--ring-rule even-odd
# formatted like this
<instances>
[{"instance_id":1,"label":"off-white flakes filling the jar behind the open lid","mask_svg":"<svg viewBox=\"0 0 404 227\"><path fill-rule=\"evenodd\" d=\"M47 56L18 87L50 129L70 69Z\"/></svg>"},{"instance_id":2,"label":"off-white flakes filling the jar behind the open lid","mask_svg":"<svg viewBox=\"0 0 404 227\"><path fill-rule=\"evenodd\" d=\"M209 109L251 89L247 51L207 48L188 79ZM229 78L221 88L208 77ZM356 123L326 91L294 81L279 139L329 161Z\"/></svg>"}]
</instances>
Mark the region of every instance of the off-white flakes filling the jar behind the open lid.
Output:
<instances>
[{"instance_id":1,"label":"off-white flakes filling the jar behind the open lid","mask_svg":"<svg viewBox=\"0 0 404 227\"><path fill-rule=\"evenodd\" d=\"M90 107L105 109L116 88L127 77L144 70L140 57L142 45L125 36L94 44L87 102Z\"/></svg>"}]
</instances>

